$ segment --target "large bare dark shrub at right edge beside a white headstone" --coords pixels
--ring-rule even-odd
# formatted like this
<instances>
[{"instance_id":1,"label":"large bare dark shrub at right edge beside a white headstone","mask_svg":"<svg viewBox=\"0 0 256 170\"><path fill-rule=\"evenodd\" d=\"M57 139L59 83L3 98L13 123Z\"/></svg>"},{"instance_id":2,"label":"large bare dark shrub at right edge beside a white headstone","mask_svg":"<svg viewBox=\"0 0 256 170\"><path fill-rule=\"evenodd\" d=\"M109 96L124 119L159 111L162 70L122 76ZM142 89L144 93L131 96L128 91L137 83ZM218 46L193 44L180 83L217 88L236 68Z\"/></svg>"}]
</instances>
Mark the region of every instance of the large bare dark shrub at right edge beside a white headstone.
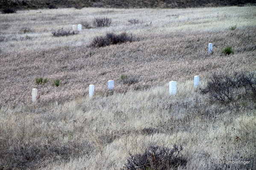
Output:
<instances>
[{"instance_id":1,"label":"large bare dark shrub at right edge beside a white headstone","mask_svg":"<svg viewBox=\"0 0 256 170\"><path fill-rule=\"evenodd\" d=\"M218 74L214 72L209 77L206 88L201 91L208 93L209 98L225 104L240 98L253 99L256 95L256 75L244 72L232 74L227 71Z\"/></svg>"}]
</instances>

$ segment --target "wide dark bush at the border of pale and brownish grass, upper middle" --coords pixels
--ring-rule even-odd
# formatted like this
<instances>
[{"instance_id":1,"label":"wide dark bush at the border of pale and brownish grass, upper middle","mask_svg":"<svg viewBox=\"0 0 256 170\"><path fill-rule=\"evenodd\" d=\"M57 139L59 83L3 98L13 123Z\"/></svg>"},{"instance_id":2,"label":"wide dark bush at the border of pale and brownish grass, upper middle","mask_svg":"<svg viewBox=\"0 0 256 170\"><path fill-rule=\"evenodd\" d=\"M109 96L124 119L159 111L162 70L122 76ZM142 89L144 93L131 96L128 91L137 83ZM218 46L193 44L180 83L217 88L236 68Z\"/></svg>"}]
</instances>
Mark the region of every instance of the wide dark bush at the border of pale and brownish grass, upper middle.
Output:
<instances>
[{"instance_id":1,"label":"wide dark bush at the border of pale and brownish grass, upper middle","mask_svg":"<svg viewBox=\"0 0 256 170\"><path fill-rule=\"evenodd\" d=\"M94 37L91 46L102 47L112 44L125 43L127 41L132 41L132 35L128 36L126 32L122 32L119 35L114 33L107 33L106 36Z\"/></svg>"}]
</instances>

